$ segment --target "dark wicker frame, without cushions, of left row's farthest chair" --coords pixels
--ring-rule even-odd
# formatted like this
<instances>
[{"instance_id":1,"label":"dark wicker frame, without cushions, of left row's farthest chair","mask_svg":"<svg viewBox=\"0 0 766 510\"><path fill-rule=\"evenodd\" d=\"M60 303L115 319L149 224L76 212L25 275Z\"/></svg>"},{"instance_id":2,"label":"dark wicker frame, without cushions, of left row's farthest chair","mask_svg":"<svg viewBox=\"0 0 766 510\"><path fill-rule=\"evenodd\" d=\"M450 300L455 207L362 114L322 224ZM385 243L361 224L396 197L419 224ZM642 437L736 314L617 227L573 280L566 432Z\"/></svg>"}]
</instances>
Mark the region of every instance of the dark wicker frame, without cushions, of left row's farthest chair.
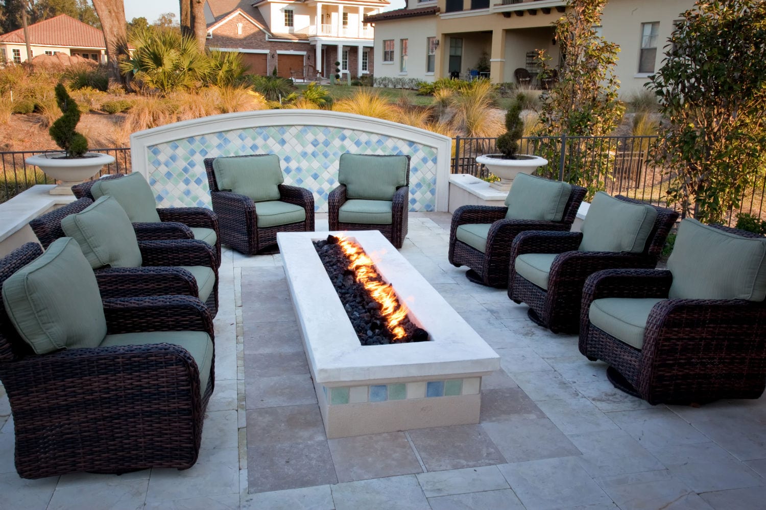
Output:
<instances>
[{"instance_id":1,"label":"dark wicker frame, without cushions, of left row's farthest chair","mask_svg":"<svg viewBox=\"0 0 766 510\"><path fill-rule=\"evenodd\" d=\"M101 177L103 179L119 179L125 174L113 174ZM95 180L87 180L72 187L77 198L95 200L90 188ZM218 265L221 265L221 232L218 232L218 216L205 207L157 207L161 223L133 223L136 238L139 241L161 241L162 239L195 239L192 228L211 229L215 232L215 254Z\"/></svg>"}]
</instances>

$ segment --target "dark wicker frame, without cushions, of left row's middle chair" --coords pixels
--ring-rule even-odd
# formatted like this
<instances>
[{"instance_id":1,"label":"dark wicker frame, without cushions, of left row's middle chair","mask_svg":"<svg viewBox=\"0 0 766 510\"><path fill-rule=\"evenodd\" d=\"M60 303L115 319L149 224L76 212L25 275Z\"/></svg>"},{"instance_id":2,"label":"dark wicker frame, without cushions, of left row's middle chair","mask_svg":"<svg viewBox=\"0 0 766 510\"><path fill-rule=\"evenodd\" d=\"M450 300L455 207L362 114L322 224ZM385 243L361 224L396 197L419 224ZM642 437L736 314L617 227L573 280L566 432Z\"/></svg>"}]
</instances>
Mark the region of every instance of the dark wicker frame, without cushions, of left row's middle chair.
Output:
<instances>
[{"instance_id":1,"label":"dark wicker frame, without cushions, of left row's middle chair","mask_svg":"<svg viewBox=\"0 0 766 510\"><path fill-rule=\"evenodd\" d=\"M54 209L29 222L43 248L64 237L61 219L80 213L93 200L81 198ZM164 296L184 294L198 296L198 285L192 274L177 266L207 266L215 273L215 284L205 304L213 317L218 312L218 258L214 248L196 239L139 241L143 265L140 268L101 268L95 271L103 297Z\"/></svg>"}]
</instances>

